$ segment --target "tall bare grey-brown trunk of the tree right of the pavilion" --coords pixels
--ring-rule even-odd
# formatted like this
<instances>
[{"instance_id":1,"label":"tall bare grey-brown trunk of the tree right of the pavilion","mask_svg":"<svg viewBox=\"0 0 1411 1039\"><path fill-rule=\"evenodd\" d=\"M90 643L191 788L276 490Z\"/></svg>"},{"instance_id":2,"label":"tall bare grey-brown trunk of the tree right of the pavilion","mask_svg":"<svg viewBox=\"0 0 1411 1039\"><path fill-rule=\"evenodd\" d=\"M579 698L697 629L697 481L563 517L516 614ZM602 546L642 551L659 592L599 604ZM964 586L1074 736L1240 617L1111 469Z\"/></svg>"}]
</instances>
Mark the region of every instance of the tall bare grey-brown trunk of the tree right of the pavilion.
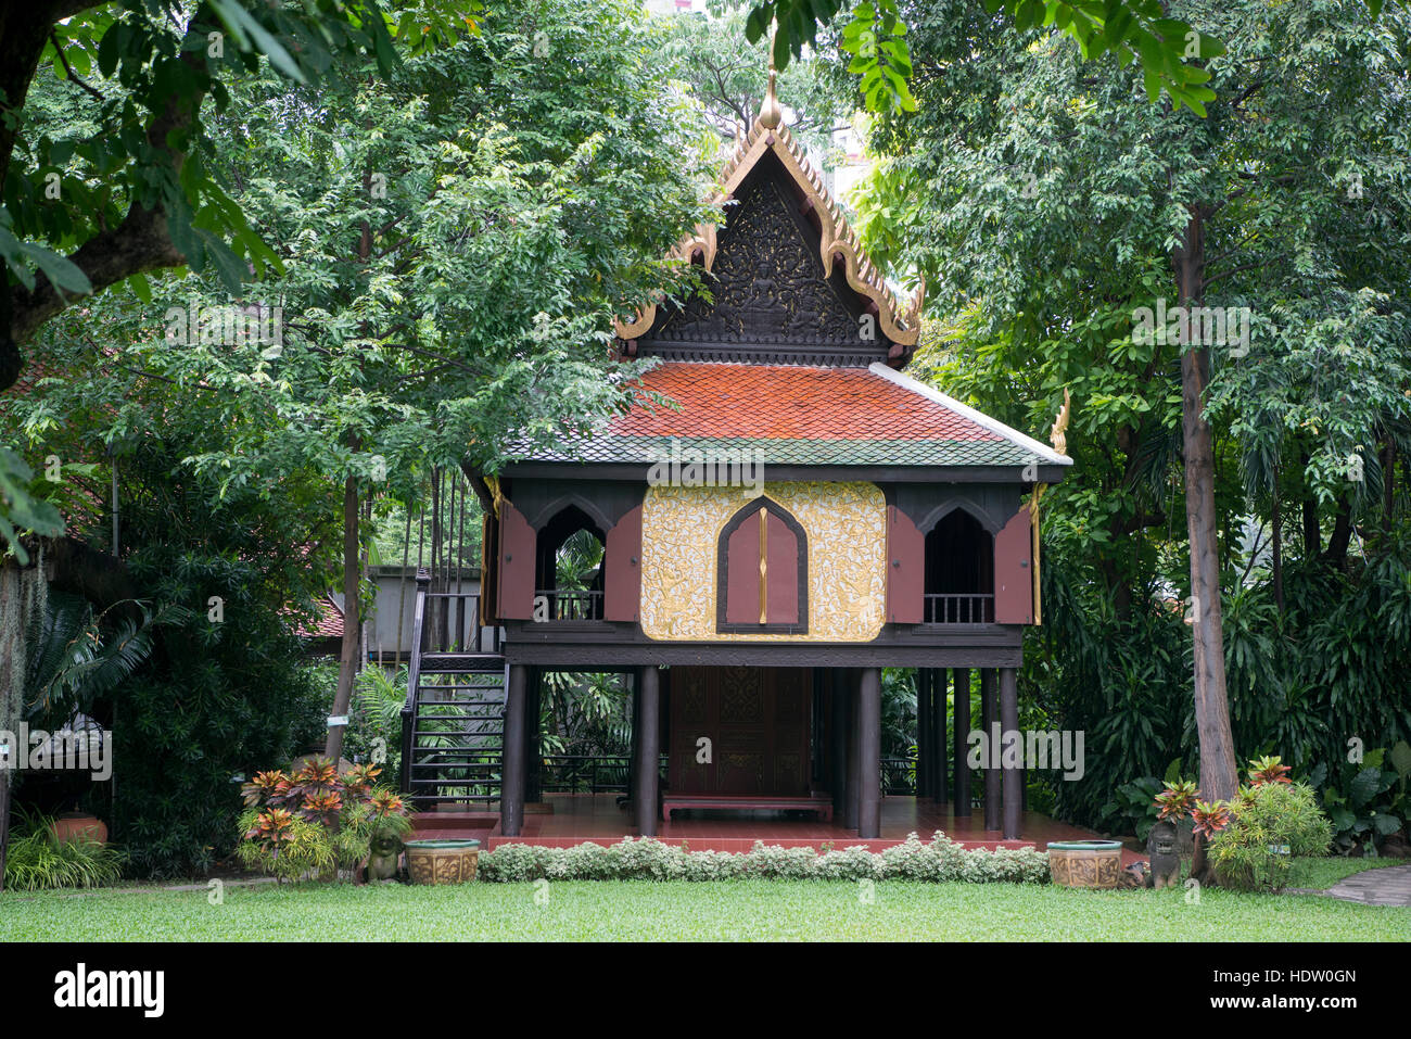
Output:
<instances>
[{"instance_id":1,"label":"tall bare grey-brown trunk of the tree right of the pavilion","mask_svg":"<svg viewBox=\"0 0 1411 1039\"><path fill-rule=\"evenodd\" d=\"M1204 298L1205 213L1191 209L1185 237L1173 254L1180 305ZM1187 309L1189 313L1189 309ZM1185 339L1185 336L1182 336ZM1225 638L1221 631L1221 566L1215 511L1215 436L1205 419L1209 350L1184 344L1181 414L1185 440L1185 521L1191 536L1191 635L1195 658L1195 728L1201 750L1201 795L1206 800L1235 796L1235 737L1225 690Z\"/></svg>"}]
</instances>

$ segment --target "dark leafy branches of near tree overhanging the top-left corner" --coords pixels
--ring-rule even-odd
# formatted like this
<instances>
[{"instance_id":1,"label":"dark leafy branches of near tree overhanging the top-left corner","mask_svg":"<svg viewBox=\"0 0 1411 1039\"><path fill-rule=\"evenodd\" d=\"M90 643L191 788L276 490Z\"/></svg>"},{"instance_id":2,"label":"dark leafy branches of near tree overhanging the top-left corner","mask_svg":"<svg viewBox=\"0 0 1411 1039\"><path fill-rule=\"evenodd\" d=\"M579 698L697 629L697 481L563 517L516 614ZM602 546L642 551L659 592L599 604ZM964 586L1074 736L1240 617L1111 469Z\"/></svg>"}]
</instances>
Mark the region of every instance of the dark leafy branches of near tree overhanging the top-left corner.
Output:
<instances>
[{"instance_id":1,"label":"dark leafy branches of near tree overhanging the top-left corner","mask_svg":"<svg viewBox=\"0 0 1411 1039\"><path fill-rule=\"evenodd\" d=\"M336 76L368 55L396 65L392 32L418 45L471 30L425 3L391 23L374 0L49 0L0 18L0 256L18 285L0 292L0 388L20 371L20 343L68 305L147 271L212 268L234 289L274 260L205 162L203 104L217 110L260 55L298 83ZM89 82L95 69L97 83ZM25 99L54 73L97 104L97 133L34 123Z\"/></svg>"}]
</instances>

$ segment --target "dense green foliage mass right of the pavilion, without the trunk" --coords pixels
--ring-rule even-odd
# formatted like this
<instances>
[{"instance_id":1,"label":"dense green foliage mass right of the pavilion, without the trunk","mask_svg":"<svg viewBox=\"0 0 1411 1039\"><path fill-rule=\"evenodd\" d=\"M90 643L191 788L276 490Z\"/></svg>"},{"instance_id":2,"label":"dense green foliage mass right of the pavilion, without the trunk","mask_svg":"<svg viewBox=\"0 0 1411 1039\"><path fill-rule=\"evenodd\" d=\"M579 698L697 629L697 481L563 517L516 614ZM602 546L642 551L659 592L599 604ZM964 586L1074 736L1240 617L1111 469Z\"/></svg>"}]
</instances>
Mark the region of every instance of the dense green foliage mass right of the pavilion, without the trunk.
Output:
<instances>
[{"instance_id":1,"label":"dense green foliage mass right of the pavilion, without the trunk","mask_svg":"<svg viewBox=\"0 0 1411 1039\"><path fill-rule=\"evenodd\" d=\"M1411 733L1411 14L1170 11L1229 48L1205 64L1205 119L1051 28L904 4L921 103L879 121L858 198L869 247L927 278L917 367L1019 429L1072 394L1022 690L1026 723L1086 733L1084 778L1050 783L1058 810L1122 829L1113 791L1201 764L1185 350L1175 326L1141 335L1141 308L1175 306L1192 220L1199 301L1249 323L1201 343L1235 748L1308 776L1349 740Z\"/></svg>"}]
</instances>

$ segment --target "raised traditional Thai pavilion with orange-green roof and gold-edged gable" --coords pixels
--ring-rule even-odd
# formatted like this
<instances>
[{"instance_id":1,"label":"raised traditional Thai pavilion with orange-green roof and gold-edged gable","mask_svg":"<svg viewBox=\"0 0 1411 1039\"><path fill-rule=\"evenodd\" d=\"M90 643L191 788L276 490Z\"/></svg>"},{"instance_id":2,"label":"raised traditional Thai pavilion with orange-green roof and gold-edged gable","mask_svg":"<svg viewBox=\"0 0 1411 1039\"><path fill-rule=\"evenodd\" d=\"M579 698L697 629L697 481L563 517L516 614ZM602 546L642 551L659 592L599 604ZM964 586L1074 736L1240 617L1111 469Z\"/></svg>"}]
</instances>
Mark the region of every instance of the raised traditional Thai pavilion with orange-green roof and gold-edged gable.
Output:
<instances>
[{"instance_id":1,"label":"raised traditional Thai pavilion with orange-green roof and gold-edged gable","mask_svg":"<svg viewBox=\"0 0 1411 1039\"><path fill-rule=\"evenodd\" d=\"M772 83L721 185L725 223L677 247L711 299L617 328L621 357L659 361L636 405L495 488L484 587L508 663L505 836L523 826L543 671L635 675L641 834L738 807L835 813L878 837L882 668L920 669L917 792L957 813L969 769L948 793L944 765L972 727L972 669L989 716L975 727L1017 728L1034 490L1071 460L903 373L920 292L888 288ZM556 553L579 531L602 565L587 590L559 590ZM985 772L986 827L1019 836L1020 789L1017 771Z\"/></svg>"}]
</instances>

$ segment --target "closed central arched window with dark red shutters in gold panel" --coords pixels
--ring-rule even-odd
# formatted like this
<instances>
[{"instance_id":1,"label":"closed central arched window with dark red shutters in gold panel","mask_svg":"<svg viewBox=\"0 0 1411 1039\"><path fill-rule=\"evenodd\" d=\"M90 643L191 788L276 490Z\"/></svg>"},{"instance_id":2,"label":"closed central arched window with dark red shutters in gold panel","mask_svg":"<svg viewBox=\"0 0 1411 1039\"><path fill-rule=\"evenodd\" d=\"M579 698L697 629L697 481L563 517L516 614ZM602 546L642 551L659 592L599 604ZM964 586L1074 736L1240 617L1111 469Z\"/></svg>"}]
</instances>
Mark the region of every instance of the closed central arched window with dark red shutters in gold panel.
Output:
<instances>
[{"instance_id":1,"label":"closed central arched window with dark red shutters in gold panel","mask_svg":"<svg viewBox=\"0 0 1411 1039\"><path fill-rule=\"evenodd\" d=\"M722 632L809 630L809 536L769 498L739 510L720 534L717 617Z\"/></svg>"}]
</instances>

